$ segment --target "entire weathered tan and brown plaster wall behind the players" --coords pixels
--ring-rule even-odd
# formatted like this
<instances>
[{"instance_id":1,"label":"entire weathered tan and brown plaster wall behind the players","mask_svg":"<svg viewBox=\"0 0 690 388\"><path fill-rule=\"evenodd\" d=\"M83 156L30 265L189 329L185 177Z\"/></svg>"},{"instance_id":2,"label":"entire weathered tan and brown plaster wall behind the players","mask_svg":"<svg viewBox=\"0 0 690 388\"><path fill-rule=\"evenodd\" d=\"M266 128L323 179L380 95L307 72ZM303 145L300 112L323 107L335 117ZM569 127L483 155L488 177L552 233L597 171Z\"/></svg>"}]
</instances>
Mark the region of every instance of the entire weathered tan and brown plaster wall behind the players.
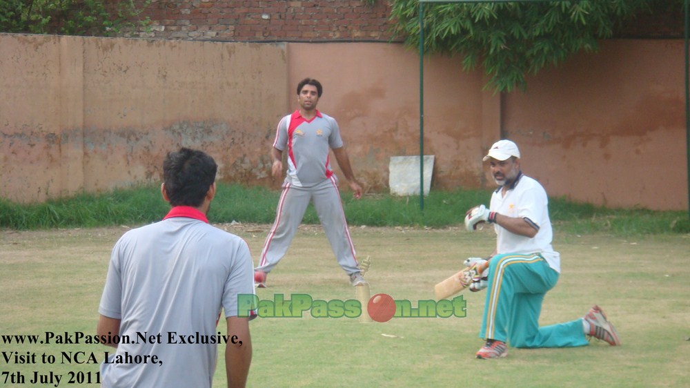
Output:
<instances>
[{"instance_id":1,"label":"entire weathered tan and brown plaster wall behind the players","mask_svg":"<svg viewBox=\"0 0 690 388\"><path fill-rule=\"evenodd\" d=\"M303 77L341 128L355 173L386 191L388 160L419 155L419 58L397 43L222 43L0 35L0 195L21 202L159 182L164 154L202 148L219 179L277 187L275 125ZM529 79L482 91L460 58L424 63L433 188L486 187L496 139L521 146L551 195L687 208L681 40L602 42ZM342 177L342 174L340 174Z\"/></svg>"}]
</instances>

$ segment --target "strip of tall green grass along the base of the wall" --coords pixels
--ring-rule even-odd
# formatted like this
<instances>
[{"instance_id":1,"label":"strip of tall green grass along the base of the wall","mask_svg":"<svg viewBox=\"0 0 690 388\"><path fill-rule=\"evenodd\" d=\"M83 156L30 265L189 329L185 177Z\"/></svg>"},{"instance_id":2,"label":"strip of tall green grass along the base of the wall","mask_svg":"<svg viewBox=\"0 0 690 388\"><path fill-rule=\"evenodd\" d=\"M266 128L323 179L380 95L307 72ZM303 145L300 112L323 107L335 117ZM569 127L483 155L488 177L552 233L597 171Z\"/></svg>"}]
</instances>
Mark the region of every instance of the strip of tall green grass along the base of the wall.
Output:
<instances>
[{"instance_id":1,"label":"strip of tall green grass along the base of the wall","mask_svg":"<svg viewBox=\"0 0 690 388\"><path fill-rule=\"evenodd\" d=\"M269 224L275 217L279 191L259 186L218 184L211 205L211 222ZM489 204L490 191L431 191L424 197L397 197L388 194L365 195L355 200L350 192L342 195L348 223L366 226L427 226L441 228L462 225L465 211L477 204ZM159 186L118 189L102 194L48 200L37 204L18 204L0 199L0 227L6 229L52 229L136 226L160 220L168 211ZM684 211L650 211L643 208L607 208L551 198L551 220L571 233L604 232L616 235L651 233L690 233L690 220ZM305 224L318 224L309 206Z\"/></svg>"}]
</instances>

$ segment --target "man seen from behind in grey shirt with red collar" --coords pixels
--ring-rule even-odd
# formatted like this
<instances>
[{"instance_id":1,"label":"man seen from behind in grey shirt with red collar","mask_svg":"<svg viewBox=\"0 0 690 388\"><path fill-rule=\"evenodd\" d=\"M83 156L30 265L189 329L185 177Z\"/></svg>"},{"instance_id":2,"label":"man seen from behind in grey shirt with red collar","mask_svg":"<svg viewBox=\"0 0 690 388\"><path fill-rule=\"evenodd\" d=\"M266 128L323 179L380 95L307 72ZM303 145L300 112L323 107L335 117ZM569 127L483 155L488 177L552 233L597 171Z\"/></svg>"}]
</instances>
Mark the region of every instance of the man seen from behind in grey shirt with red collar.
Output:
<instances>
[{"instance_id":1,"label":"man seen from behind in grey shirt with red collar","mask_svg":"<svg viewBox=\"0 0 690 388\"><path fill-rule=\"evenodd\" d=\"M252 342L237 295L254 293L253 262L242 238L208 224L216 171L201 151L168 153L161 194L170 212L128 231L112 249L97 335L130 342L106 344L117 351L101 364L103 387L211 387L217 343L226 344L228 387L246 384ZM217 329L221 308L227 336ZM117 362L126 356L159 362Z\"/></svg>"}]
</instances>

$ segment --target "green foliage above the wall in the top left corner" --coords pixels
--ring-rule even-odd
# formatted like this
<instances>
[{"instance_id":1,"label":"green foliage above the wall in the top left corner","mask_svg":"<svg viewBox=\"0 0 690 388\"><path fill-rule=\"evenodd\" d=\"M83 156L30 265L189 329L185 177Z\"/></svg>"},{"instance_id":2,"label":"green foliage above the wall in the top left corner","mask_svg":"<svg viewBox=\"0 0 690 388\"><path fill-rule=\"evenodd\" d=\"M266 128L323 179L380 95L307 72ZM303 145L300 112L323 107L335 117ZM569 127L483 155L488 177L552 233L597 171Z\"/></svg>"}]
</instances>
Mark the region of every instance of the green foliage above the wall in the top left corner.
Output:
<instances>
[{"instance_id":1,"label":"green foliage above the wall in the top left corner","mask_svg":"<svg viewBox=\"0 0 690 388\"><path fill-rule=\"evenodd\" d=\"M150 0L0 0L0 32L126 35L146 28L141 11Z\"/></svg>"}]
</instances>

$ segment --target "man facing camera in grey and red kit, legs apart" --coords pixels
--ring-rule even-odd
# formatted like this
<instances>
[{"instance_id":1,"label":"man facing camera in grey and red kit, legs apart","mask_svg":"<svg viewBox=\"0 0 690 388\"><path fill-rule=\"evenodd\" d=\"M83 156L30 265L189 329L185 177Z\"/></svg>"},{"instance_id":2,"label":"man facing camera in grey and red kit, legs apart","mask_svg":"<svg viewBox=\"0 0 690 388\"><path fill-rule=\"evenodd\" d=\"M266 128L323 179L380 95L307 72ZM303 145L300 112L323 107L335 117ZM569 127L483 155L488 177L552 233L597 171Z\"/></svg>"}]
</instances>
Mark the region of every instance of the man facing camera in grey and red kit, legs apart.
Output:
<instances>
[{"instance_id":1,"label":"man facing camera in grey and red kit, legs apart","mask_svg":"<svg viewBox=\"0 0 690 388\"><path fill-rule=\"evenodd\" d=\"M299 109L278 123L275 141L270 149L270 159L273 161L271 173L275 178L281 176L284 151L288 152L288 171L275 222L268 232L259 266L255 269L255 282L259 287L265 287L266 274L288 250L309 202L313 202L335 258L350 276L351 284L364 283L345 220L337 178L331 169L331 149L357 199L362 197L362 186L353 174L337 122L316 108L322 93L319 81L302 79L297 85Z\"/></svg>"}]
</instances>

